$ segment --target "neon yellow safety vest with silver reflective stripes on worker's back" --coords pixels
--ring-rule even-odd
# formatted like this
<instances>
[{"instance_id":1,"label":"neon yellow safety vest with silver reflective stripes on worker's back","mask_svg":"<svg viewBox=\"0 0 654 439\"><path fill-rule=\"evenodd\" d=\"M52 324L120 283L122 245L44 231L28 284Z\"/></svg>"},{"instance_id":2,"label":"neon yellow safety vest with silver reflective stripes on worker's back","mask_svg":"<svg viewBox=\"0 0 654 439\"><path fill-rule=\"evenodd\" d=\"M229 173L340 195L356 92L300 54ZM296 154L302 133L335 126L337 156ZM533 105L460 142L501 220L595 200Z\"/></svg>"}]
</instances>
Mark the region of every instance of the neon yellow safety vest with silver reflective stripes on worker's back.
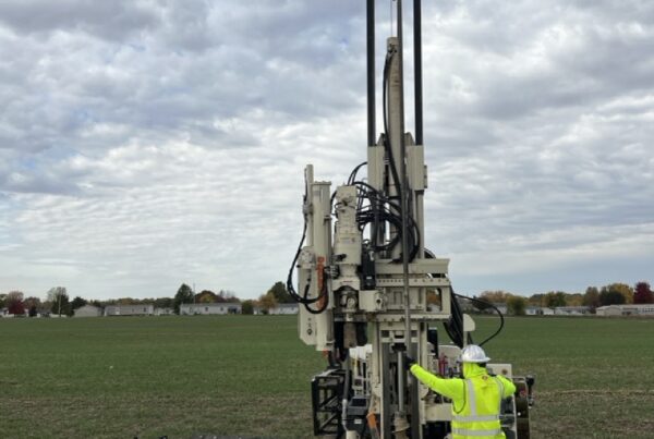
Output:
<instances>
[{"instance_id":1,"label":"neon yellow safety vest with silver reflective stripes on worker's back","mask_svg":"<svg viewBox=\"0 0 654 439\"><path fill-rule=\"evenodd\" d=\"M504 438L499 423L504 383L497 377L487 375L469 378L465 383L465 402L457 411L452 404L452 437L468 438Z\"/></svg>"}]
</instances>

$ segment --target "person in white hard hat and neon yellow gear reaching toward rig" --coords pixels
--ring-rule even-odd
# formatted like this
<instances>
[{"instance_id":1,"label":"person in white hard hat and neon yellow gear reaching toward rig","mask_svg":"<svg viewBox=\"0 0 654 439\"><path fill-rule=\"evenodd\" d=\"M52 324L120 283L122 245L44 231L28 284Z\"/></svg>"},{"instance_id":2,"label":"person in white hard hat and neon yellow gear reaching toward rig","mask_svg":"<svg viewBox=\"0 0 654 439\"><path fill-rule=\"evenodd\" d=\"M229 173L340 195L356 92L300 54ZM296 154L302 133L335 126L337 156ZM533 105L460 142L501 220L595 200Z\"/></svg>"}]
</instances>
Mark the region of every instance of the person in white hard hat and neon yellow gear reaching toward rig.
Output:
<instances>
[{"instance_id":1,"label":"person in white hard hat and neon yellow gear reaching toward rig","mask_svg":"<svg viewBox=\"0 0 654 439\"><path fill-rule=\"evenodd\" d=\"M463 378L441 378L407 357L407 367L415 378L452 400L453 439L506 437L499 423L500 404L516 392L516 386L502 376L488 375L489 359L482 347L469 344L461 352Z\"/></svg>"}]
</instances>

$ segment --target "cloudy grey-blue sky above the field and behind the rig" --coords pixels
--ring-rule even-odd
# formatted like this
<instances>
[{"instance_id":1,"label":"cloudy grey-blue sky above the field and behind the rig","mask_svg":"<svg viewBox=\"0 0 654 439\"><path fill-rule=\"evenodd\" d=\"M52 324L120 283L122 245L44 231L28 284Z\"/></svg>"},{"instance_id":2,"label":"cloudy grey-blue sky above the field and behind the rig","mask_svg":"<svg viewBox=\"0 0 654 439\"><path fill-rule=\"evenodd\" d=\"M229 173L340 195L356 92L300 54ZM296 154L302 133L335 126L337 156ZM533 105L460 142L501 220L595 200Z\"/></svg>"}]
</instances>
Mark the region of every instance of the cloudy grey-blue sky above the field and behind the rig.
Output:
<instances>
[{"instance_id":1,"label":"cloudy grey-blue sky above the field and behind the rig","mask_svg":"<svg viewBox=\"0 0 654 439\"><path fill-rule=\"evenodd\" d=\"M424 3L425 241L456 290L654 281L654 2ZM0 60L0 293L257 297L304 166L365 160L363 0L4 0Z\"/></svg>"}]
</instances>

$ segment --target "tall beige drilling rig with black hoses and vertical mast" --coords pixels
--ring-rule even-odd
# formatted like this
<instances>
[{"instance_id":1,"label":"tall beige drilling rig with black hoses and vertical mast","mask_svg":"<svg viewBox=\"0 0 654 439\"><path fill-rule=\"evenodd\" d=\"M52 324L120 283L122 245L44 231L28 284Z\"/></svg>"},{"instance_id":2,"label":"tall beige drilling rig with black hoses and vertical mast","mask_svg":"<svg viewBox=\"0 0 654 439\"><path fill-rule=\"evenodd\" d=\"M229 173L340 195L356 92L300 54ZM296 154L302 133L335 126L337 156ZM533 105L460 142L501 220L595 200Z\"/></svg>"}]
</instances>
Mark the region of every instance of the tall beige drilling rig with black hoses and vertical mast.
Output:
<instances>
[{"instance_id":1,"label":"tall beige drilling rig with black hoses and vertical mast","mask_svg":"<svg viewBox=\"0 0 654 439\"><path fill-rule=\"evenodd\" d=\"M315 436L447 437L451 401L421 385L403 362L409 354L434 374L459 376L461 350L473 342L475 324L461 310L449 259L424 244L421 1L413 0L412 13L415 137L404 129L402 0L389 1L396 20L382 75L384 131L377 135L375 0L367 0L367 161L334 192L315 180L312 164L304 171L304 231L287 289L301 305L300 339L328 358L312 380ZM364 166L367 178L359 178ZM513 376L510 364L487 368L518 389L501 402L506 437L529 438L533 378Z\"/></svg>"}]
</instances>

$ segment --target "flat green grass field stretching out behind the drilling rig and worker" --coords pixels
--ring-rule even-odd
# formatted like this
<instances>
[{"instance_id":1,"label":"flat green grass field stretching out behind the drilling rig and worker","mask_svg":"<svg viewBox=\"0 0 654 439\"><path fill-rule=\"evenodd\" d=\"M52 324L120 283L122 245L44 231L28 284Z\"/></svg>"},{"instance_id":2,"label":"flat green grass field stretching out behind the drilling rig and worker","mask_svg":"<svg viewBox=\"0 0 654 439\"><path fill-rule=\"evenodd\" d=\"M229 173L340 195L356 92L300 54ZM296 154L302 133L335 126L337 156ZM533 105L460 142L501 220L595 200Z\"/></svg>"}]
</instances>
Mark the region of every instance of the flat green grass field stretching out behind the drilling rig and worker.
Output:
<instances>
[{"instance_id":1,"label":"flat green grass field stretching out behind the drilling rig and worker","mask_svg":"<svg viewBox=\"0 0 654 439\"><path fill-rule=\"evenodd\" d=\"M295 321L0 319L0 437L311 437ZM654 319L511 318L487 350L536 374L534 437L654 437Z\"/></svg>"}]
</instances>

